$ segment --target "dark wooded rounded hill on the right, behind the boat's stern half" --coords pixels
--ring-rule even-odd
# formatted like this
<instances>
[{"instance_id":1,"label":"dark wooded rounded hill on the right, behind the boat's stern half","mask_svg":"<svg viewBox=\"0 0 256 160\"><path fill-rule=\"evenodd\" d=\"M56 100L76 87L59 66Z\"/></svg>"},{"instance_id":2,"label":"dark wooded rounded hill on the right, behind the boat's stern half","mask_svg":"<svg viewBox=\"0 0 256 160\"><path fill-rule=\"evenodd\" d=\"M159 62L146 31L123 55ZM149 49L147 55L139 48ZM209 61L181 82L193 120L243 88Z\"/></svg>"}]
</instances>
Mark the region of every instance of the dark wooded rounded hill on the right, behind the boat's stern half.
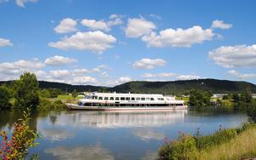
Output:
<instances>
[{"instance_id":1,"label":"dark wooded rounded hill on the right, behind the boat's stern half","mask_svg":"<svg viewBox=\"0 0 256 160\"><path fill-rule=\"evenodd\" d=\"M252 93L256 93L256 85L247 82L227 81L218 79L194 79L170 82L145 82L134 81L123 83L111 88L117 92L136 92L154 94L184 94L190 89L201 89L212 91L213 94L241 93L250 88Z\"/></svg>"}]
</instances>

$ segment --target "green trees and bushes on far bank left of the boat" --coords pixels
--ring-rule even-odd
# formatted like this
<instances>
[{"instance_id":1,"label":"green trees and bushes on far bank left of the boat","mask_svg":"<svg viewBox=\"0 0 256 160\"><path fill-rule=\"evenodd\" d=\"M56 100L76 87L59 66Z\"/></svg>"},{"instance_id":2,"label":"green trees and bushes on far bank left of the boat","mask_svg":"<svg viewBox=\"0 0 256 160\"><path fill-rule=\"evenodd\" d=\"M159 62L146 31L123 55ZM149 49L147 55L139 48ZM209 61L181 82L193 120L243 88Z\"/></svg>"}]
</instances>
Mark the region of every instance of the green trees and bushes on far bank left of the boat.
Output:
<instances>
[{"instance_id":1,"label":"green trees and bushes on far bank left of the boat","mask_svg":"<svg viewBox=\"0 0 256 160\"><path fill-rule=\"evenodd\" d=\"M64 94L61 89L39 89L39 83L35 74L25 72L20 78L11 83L3 83L0 86L0 109L9 108L32 108L49 106L61 106L61 100L50 101L49 98L56 98ZM47 106L46 106L47 104Z\"/></svg>"}]
</instances>

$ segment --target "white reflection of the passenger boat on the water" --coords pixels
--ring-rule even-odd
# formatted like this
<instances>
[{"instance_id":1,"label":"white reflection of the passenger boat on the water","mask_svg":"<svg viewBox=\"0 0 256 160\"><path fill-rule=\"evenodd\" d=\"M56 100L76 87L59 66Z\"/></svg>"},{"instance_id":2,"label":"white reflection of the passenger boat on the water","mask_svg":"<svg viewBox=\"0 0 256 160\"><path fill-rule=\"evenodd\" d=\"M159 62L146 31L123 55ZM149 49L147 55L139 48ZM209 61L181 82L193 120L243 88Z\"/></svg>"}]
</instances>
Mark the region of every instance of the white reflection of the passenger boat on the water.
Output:
<instances>
[{"instance_id":1,"label":"white reflection of the passenger boat on the water","mask_svg":"<svg viewBox=\"0 0 256 160\"><path fill-rule=\"evenodd\" d=\"M65 119L58 118L58 124L92 128L159 127L183 122L187 110L177 111L68 111Z\"/></svg>"}]
</instances>

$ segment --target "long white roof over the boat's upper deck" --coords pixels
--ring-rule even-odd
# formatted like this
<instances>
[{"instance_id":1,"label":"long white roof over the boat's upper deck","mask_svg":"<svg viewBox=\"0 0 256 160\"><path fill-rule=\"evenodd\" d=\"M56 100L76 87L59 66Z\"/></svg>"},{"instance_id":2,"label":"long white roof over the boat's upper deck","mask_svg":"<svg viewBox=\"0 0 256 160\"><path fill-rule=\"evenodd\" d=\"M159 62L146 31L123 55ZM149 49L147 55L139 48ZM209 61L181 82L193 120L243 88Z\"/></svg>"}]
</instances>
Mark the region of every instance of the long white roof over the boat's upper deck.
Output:
<instances>
[{"instance_id":1,"label":"long white roof over the boat's upper deck","mask_svg":"<svg viewBox=\"0 0 256 160\"><path fill-rule=\"evenodd\" d=\"M163 94L131 94L131 93L128 93L128 94L124 94L124 93L98 93L98 92L94 92L92 93L92 95L96 95L96 96L108 96L108 97L115 97L115 96L125 96L125 97L163 97L164 95Z\"/></svg>"}]
</instances>

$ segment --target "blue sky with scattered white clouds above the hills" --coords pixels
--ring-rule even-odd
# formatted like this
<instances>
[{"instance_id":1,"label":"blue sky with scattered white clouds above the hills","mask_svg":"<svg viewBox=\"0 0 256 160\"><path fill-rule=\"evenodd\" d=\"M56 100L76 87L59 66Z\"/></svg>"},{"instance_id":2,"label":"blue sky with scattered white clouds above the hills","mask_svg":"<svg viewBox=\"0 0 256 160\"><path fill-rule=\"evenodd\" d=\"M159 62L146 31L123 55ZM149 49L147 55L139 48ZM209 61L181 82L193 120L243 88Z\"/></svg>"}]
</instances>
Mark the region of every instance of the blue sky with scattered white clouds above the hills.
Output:
<instances>
[{"instance_id":1,"label":"blue sky with scattered white clouds above the hills","mask_svg":"<svg viewBox=\"0 0 256 160\"><path fill-rule=\"evenodd\" d=\"M0 0L0 81L256 84L256 1Z\"/></svg>"}]
</instances>

